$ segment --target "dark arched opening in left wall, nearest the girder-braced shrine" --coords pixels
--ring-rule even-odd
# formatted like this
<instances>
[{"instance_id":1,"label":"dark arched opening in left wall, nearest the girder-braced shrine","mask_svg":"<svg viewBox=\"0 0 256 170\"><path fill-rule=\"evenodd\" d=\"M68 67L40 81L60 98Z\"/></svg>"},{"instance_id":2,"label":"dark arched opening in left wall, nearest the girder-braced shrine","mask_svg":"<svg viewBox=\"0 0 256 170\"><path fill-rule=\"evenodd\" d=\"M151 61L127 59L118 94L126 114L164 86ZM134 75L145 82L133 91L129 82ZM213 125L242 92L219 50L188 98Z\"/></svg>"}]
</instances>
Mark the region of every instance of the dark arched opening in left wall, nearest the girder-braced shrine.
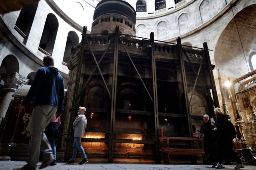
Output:
<instances>
[{"instance_id":1,"label":"dark arched opening in left wall, nearest the girder-braced shrine","mask_svg":"<svg viewBox=\"0 0 256 170\"><path fill-rule=\"evenodd\" d=\"M63 57L63 62L67 63L68 60L71 57L71 49L73 46L77 45L79 43L79 37L74 31L69 31L68 33L68 38L66 42L66 47L65 47L65 52L64 52L64 57Z\"/></svg>"}]
</instances>

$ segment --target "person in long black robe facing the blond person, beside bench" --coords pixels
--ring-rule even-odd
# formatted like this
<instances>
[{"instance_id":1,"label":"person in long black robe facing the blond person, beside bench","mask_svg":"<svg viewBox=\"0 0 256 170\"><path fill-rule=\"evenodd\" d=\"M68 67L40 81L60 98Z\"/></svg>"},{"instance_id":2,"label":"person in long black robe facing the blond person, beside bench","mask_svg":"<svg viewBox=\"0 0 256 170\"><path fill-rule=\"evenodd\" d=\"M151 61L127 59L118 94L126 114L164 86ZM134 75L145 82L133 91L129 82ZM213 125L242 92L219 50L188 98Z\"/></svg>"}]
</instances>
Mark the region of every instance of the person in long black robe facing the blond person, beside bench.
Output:
<instances>
[{"instance_id":1,"label":"person in long black robe facing the blond person, beside bench","mask_svg":"<svg viewBox=\"0 0 256 170\"><path fill-rule=\"evenodd\" d=\"M198 139L204 134L204 152L206 156L206 163L212 164L213 168L216 166L216 131L217 128L209 121L209 115L204 115L204 122L198 131Z\"/></svg>"}]
</instances>

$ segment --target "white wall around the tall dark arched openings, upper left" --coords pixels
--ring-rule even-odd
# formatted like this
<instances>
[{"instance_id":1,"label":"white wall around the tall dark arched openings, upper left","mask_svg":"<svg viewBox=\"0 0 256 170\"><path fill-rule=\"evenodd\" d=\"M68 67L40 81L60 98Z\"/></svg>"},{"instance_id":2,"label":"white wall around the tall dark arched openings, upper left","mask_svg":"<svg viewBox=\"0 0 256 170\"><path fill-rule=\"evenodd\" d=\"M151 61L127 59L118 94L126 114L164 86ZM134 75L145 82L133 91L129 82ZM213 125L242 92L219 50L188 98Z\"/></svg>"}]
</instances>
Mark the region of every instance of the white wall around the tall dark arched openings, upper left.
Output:
<instances>
[{"instance_id":1,"label":"white wall around the tall dark arched openings, upper left","mask_svg":"<svg viewBox=\"0 0 256 170\"><path fill-rule=\"evenodd\" d=\"M19 33L14 29L16 20L20 14L20 11L15 11L15 12L10 12L8 14L4 14L3 19L8 28L12 31L14 36L21 41L21 37L19 37ZM38 53L38 46L40 43L40 39L42 36L42 32L44 29L44 25L46 22L46 18L48 14L54 14L54 16L58 20L58 32L56 34L56 39L54 41L54 48L52 51L52 57L54 57L54 64L57 68L60 69L61 72L63 72L65 75L68 75L68 69L66 66L62 66L62 60L64 56L64 51L65 51L65 46L66 46L66 40L68 37L68 32L69 31L74 31L77 35L80 35L80 31L74 29L71 27L68 23L66 23L60 16L58 16L49 6L48 4L44 1L41 0L38 3L38 7L36 9L36 14L32 23L32 27L30 30L30 33L28 35L28 39L26 41L26 48L32 51L32 53L37 54ZM79 41L81 36L79 37ZM70 49L71 50L71 49ZM42 57L39 55L35 55L34 57L39 58L42 61ZM26 56L22 57L20 61L26 60ZM33 63L33 62L32 62ZM29 63L26 63L27 65ZM38 69L42 65L42 63L38 63L37 68ZM31 67L31 65L29 65ZM34 66L35 67L35 66ZM26 72L26 73L25 73ZM24 72L21 74L22 76L27 75L29 72L27 70L24 70ZM67 76L64 76L67 77Z\"/></svg>"}]
</instances>

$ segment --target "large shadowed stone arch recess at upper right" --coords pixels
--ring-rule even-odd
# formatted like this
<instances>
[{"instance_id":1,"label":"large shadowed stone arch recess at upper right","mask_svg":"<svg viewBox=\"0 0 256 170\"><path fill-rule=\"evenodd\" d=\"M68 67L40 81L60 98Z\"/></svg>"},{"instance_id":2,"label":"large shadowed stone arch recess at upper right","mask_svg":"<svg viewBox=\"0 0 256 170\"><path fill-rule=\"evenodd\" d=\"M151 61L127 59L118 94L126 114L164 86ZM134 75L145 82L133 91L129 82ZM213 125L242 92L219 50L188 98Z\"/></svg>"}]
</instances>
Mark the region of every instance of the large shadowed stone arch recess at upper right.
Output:
<instances>
[{"instance_id":1,"label":"large shadowed stone arch recess at upper right","mask_svg":"<svg viewBox=\"0 0 256 170\"><path fill-rule=\"evenodd\" d=\"M237 78L248 73L248 56L256 38L256 27L251 26L256 25L256 18L254 16L256 16L256 4L250 5L238 12L235 19L240 37L238 31L234 29L236 24L233 18L222 31L216 43L214 64L221 72L225 72L230 77ZM230 33L230 30L234 31Z\"/></svg>"}]
</instances>

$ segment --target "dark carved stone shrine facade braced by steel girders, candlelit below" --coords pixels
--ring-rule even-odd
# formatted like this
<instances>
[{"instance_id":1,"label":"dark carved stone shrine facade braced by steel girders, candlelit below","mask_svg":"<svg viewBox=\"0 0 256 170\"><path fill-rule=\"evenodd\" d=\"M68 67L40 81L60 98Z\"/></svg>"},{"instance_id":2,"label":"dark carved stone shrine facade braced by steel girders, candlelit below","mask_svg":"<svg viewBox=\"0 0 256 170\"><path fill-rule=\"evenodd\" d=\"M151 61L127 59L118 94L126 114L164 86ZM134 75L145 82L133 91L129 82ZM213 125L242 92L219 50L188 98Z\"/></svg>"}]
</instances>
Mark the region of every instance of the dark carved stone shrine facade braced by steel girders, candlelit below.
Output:
<instances>
[{"instance_id":1,"label":"dark carved stone shrine facade braced by steel girders, candlelit below","mask_svg":"<svg viewBox=\"0 0 256 170\"><path fill-rule=\"evenodd\" d=\"M114 0L102 1L106 6L107 2ZM121 18L102 11L96 20L106 16ZM96 33L111 30L111 20L92 27L94 34L83 34L83 43L67 63L70 80L61 150L70 152L70 121L78 106L85 106L83 146L99 147L84 148L91 162L161 162L157 156L160 127L166 136L191 137L205 113L214 115L218 103L214 66L207 49L184 47L179 53L179 40L174 45L157 43L153 33L150 41L126 37L118 26L114 33ZM119 28L127 26L124 21L120 24Z\"/></svg>"}]
</instances>

